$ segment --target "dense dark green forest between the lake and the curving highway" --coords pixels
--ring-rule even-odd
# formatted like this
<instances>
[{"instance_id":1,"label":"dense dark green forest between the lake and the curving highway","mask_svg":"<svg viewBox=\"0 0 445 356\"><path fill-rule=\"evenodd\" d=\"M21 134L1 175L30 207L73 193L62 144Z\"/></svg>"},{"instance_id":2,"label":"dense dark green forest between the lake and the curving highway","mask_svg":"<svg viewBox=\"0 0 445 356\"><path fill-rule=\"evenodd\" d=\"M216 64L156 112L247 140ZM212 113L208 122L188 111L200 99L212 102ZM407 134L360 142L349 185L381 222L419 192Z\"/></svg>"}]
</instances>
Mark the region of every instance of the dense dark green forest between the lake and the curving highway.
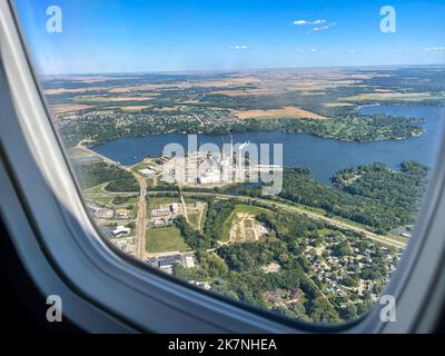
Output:
<instances>
[{"instance_id":1,"label":"dense dark green forest between the lake and the curving highway","mask_svg":"<svg viewBox=\"0 0 445 356\"><path fill-rule=\"evenodd\" d=\"M399 171L375 164L337 172L338 189L323 185L304 168L286 168L280 198L322 208L365 225L377 234L414 222L419 199L426 189L427 168L418 162L403 162ZM258 197L260 186L237 187L238 194Z\"/></svg>"}]
</instances>

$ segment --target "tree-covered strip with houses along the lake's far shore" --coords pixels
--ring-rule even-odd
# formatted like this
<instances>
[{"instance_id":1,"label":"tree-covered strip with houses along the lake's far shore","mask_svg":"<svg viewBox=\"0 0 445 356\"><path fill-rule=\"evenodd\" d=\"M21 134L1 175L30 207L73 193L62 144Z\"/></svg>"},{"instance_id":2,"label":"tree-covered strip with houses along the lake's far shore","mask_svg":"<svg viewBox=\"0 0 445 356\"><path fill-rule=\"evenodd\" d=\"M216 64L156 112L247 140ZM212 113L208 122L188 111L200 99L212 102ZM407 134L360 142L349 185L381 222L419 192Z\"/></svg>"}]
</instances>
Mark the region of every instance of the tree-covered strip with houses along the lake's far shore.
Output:
<instances>
[{"instance_id":1,"label":"tree-covered strip with houses along the lake's far shore","mask_svg":"<svg viewBox=\"0 0 445 356\"><path fill-rule=\"evenodd\" d=\"M340 110L340 109L339 109ZM327 119L268 118L239 120L225 110L189 108L187 112L161 113L147 111L128 113L116 110L101 113L99 110L85 110L76 120L60 120L58 123L68 146L76 146L88 139L100 144L121 137L140 137L168 132L222 135L245 131L281 130L289 134L309 134L340 141L370 142L390 139L407 139L423 135L417 123L423 119L389 117L384 115L360 115L342 108L343 113ZM195 117L207 118L202 126Z\"/></svg>"}]
</instances>

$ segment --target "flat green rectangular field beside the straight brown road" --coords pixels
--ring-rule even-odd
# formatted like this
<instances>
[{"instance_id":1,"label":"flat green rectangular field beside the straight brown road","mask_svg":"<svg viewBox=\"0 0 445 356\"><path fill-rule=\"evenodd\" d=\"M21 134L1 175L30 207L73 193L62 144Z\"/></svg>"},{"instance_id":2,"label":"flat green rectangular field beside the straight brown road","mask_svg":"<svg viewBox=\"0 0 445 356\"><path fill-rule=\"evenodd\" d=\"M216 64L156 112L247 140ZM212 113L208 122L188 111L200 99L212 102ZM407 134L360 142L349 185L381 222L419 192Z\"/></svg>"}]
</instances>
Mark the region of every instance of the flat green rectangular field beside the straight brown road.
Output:
<instances>
[{"instance_id":1,"label":"flat green rectangular field beside the straight brown road","mask_svg":"<svg viewBox=\"0 0 445 356\"><path fill-rule=\"evenodd\" d=\"M184 253L190 250L190 248L186 245L176 227L165 227L147 230L146 250L149 254Z\"/></svg>"}]
</instances>

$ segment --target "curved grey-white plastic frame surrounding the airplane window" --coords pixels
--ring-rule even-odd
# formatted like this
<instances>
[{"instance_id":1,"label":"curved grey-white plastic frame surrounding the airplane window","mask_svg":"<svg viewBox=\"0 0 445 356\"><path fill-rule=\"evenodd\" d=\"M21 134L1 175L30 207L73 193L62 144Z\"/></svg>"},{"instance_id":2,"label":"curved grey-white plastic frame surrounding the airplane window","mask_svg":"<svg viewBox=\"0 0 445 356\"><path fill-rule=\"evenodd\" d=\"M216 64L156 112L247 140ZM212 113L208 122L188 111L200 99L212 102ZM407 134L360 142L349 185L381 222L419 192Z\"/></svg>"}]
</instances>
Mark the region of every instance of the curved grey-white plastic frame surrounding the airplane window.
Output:
<instances>
[{"instance_id":1,"label":"curved grey-white plastic frame surrounding the airplane window","mask_svg":"<svg viewBox=\"0 0 445 356\"><path fill-rule=\"evenodd\" d=\"M356 334L425 332L431 327L425 317L438 317L445 276L436 283L429 305L425 305L425 298L427 286L439 277L439 263L445 261L445 228L441 221L441 211L445 211L445 137L425 198L431 204L424 205L413 239L385 291L396 297L397 323L380 323L377 307L339 326L287 320L197 290L131 260L103 241L85 208L63 145L51 125L24 42L12 2L1 2L0 92L9 91L10 96L0 102L0 147L4 152L0 164L6 166L0 165L0 187L9 186L6 191L11 206L4 209L1 204L0 212L28 270L39 263L31 260L32 253L40 251L60 288L68 289L67 299L77 297L78 304L102 317L88 325L91 318L77 313L76 306L80 306L68 304L67 317L75 323L95 332L113 325L111 329L116 330L156 333ZM34 273L33 277L40 278L44 293L53 294L41 276Z\"/></svg>"}]
</instances>

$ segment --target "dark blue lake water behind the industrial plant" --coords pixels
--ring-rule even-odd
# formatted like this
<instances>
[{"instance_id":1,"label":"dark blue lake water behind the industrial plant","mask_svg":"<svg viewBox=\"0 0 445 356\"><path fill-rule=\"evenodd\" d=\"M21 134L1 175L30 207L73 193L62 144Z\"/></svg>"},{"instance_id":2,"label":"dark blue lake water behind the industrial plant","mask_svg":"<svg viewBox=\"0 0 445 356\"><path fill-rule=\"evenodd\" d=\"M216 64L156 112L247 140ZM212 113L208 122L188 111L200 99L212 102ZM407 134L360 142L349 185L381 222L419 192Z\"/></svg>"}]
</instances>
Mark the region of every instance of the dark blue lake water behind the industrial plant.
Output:
<instances>
[{"instance_id":1,"label":"dark blue lake water behind the industrial plant","mask_svg":"<svg viewBox=\"0 0 445 356\"><path fill-rule=\"evenodd\" d=\"M424 123L421 123L425 134L407 140L359 144L324 139L306 134L255 131L234 134L234 142L283 144L285 166L307 167L313 178L325 184L329 184L330 177L336 171L364 164L384 162L392 168L398 168L404 160L417 160L429 167L434 165L445 129L445 107L370 106L362 108L360 112L422 117L426 119ZM198 145L207 142L220 145L222 139L228 142L229 136L198 135ZM160 156L164 147L171 142L180 144L187 149L188 136L166 134L120 138L95 146L92 149L122 165L134 165L148 156Z\"/></svg>"}]
</instances>

